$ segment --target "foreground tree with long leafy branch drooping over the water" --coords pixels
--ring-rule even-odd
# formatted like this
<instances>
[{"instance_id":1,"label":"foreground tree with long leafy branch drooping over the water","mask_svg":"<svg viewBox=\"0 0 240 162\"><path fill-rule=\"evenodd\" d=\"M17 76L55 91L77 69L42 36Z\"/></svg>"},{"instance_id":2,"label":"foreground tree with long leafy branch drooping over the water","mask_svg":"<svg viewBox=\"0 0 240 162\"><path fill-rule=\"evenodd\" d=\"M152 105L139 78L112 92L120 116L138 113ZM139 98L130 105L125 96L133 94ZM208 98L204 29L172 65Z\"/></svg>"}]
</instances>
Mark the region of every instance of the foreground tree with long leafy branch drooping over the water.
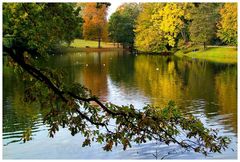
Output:
<instances>
[{"instance_id":1,"label":"foreground tree with long leafy branch drooping over the water","mask_svg":"<svg viewBox=\"0 0 240 162\"><path fill-rule=\"evenodd\" d=\"M82 146L96 141L104 143L106 151L113 145L121 144L125 150L131 147L130 142L153 139L205 155L228 146L227 137L218 137L215 130L205 128L193 115L182 114L172 101L164 108L146 105L142 109L102 103L82 85L65 84L66 74L61 70L41 67L34 54L48 54L52 42L71 41L69 28L77 29L78 11L69 3L3 4L3 53L27 85L24 101L50 108L44 116L50 137L59 127L67 127L72 135L81 133L85 137ZM30 139L29 132L24 133L24 141ZM180 134L185 137L179 139Z\"/></svg>"}]
</instances>

